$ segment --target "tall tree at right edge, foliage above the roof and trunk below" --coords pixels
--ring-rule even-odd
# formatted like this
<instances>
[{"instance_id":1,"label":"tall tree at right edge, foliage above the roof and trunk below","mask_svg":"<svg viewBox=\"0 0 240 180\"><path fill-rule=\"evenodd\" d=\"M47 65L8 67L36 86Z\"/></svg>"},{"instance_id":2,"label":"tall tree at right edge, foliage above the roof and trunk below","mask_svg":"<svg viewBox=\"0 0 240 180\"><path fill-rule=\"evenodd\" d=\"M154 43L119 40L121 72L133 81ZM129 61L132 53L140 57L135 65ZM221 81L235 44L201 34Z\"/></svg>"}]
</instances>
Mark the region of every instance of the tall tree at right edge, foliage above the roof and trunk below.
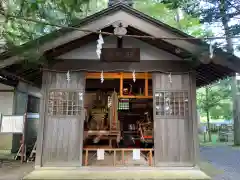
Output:
<instances>
[{"instance_id":1,"label":"tall tree at right edge, foliage above the roof and trunk below","mask_svg":"<svg viewBox=\"0 0 240 180\"><path fill-rule=\"evenodd\" d=\"M188 14L200 17L202 23L221 24L224 32L226 44L221 43L229 54L234 53L234 49L239 48L239 44L234 47L232 36L240 34L240 1L239 0L206 0L201 6L196 0L163 0L169 8L182 8ZM234 23L235 22L235 23ZM232 79L233 94L233 119L234 119L234 144L240 145L240 97L237 96L236 77Z\"/></svg>"}]
</instances>

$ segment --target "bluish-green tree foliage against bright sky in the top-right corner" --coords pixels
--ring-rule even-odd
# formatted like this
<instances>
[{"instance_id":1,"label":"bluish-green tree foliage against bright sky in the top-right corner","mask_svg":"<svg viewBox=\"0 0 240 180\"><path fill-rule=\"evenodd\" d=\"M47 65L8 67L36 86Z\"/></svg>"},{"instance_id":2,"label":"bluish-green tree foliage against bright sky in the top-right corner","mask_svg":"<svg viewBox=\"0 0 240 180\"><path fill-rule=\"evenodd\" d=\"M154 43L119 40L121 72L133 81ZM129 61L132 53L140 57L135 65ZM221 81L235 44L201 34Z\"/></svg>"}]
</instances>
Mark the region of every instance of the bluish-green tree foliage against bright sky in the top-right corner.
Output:
<instances>
[{"instance_id":1,"label":"bluish-green tree foliage against bright sky in the top-right corner","mask_svg":"<svg viewBox=\"0 0 240 180\"><path fill-rule=\"evenodd\" d=\"M234 45L231 36L240 34L240 1L239 0L163 0L163 3L171 9L181 8L193 17L199 17L204 24L214 24L223 30L227 44L224 47L229 53L234 52ZM235 47L235 48L238 48Z\"/></svg>"}]
</instances>

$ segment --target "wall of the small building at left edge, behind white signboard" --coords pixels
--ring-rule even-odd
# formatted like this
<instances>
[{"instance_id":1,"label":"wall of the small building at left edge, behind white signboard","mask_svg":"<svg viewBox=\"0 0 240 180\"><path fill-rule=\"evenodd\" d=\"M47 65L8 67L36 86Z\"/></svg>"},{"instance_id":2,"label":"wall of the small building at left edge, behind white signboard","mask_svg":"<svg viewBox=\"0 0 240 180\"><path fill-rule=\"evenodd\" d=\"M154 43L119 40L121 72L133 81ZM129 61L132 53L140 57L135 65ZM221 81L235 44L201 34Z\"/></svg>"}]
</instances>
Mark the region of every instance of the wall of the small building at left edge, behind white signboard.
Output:
<instances>
[{"instance_id":1,"label":"wall of the small building at left edge, behind white signboard","mask_svg":"<svg viewBox=\"0 0 240 180\"><path fill-rule=\"evenodd\" d=\"M28 95L41 97L40 89L23 82L19 82L16 88L0 84L0 113L2 115L23 115L27 112ZM32 127L27 128L31 129ZM29 138L31 139L31 135ZM0 150L8 153L18 151L21 135L0 134L0 139Z\"/></svg>"}]
</instances>

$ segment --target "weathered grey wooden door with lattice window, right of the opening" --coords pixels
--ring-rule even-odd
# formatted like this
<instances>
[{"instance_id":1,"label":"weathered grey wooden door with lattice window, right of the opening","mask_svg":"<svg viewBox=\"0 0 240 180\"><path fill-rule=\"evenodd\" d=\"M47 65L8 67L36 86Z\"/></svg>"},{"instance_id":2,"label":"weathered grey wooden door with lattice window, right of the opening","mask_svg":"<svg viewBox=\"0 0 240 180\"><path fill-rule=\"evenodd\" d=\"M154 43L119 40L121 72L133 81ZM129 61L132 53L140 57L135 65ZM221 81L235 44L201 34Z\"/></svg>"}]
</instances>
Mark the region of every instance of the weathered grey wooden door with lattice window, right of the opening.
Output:
<instances>
[{"instance_id":1,"label":"weathered grey wooden door with lattice window, right of the opening","mask_svg":"<svg viewBox=\"0 0 240 180\"><path fill-rule=\"evenodd\" d=\"M189 74L153 75L156 166L193 166L189 77Z\"/></svg>"}]
</instances>

